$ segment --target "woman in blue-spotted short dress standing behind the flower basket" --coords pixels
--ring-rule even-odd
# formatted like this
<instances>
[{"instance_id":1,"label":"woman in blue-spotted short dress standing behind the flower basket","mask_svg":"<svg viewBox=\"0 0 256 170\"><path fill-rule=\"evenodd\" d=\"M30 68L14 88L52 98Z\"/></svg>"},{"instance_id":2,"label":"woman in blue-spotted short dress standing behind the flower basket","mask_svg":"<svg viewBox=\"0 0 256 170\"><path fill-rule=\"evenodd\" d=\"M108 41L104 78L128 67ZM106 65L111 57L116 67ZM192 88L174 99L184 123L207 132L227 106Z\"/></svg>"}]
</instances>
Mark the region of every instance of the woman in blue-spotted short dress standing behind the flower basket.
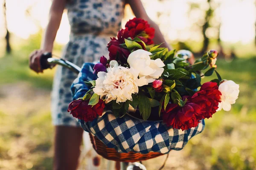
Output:
<instances>
[{"instance_id":1,"label":"woman in blue-spotted short dress standing behind the flower basket","mask_svg":"<svg viewBox=\"0 0 256 170\"><path fill-rule=\"evenodd\" d=\"M155 28L155 44L166 42L140 0L52 0L41 49L30 55L30 68L43 73L40 57L44 52L52 52L64 8L67 8L71 33L62 57L81 66L84 62L99 60L102 55L108 56L106 45L110 37L116 37L121 27L125 3L130 4L136 17L147 20ZM162 46L170 49L167 42ZM72 101L70 85L76 76L67 68L58 67L53 82L54 170L75 170L78 165L83 130L77 120L67 113L68 104Z\"/></svg>"}]
</instances>

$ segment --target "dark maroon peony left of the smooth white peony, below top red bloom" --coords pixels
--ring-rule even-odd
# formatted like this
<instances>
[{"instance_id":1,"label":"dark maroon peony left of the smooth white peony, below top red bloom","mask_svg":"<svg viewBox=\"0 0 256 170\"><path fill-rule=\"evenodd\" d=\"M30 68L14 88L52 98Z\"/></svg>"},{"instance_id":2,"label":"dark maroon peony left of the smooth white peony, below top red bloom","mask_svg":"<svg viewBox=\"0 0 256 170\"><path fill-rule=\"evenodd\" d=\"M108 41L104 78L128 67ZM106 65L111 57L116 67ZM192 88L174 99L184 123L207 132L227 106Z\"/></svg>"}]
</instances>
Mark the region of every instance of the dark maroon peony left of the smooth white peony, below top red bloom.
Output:
<instances>
[{"instance_id":1,"label":"dark maroon peony left of the smooth white peony, below top red bloom","mask_svg":"<svg viewBox=\"0 0 256 170\"><path fill-rule=\"evenodd\" d=\"M116 59L116 55L119 54L119 59L121 62L126 63L127 58L130 55L130 51L125 48L121 48L121 43L116 38L111 38L111 41L108 42L108 51L109 51L109 60Z\"/></svg>"}]
</instances>

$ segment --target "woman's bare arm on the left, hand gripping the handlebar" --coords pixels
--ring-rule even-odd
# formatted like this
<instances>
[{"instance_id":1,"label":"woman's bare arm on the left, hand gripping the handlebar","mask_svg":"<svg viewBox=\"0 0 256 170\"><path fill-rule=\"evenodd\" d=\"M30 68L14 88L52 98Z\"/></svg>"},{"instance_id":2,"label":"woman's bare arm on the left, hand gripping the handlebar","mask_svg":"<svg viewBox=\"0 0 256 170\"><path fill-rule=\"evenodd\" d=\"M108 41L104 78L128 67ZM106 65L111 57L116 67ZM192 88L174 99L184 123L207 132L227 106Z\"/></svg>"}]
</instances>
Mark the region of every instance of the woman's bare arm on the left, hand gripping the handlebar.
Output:
<instances>
[{"instance_id":1,"label":"woman's bare arm on the left, hand gripping the handlebar","mask_svg":"<svg viewBox=\"0 0 256 170\"><path fill-rule=\"evenodd\" d=\"M52 0L52 5L49 11L49 22L41 42L41 49L30 54L29 66L37 73L43 72L40 66L41 55L44 52L52 52L53 42L60 26L66 3L67 0Z\"/></svg>"}]
</instances>

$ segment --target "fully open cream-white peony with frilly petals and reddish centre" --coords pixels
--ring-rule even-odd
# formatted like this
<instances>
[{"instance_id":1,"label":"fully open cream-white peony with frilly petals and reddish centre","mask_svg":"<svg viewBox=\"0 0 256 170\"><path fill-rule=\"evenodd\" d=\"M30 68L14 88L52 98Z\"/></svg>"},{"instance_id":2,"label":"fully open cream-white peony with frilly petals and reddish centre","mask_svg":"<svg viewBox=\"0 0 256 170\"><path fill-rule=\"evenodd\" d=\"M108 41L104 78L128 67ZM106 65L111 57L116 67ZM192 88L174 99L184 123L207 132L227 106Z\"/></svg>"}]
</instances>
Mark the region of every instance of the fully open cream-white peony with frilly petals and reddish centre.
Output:
<instances>
[{"instance_id":1,"label":"fully open cream-white peony with frilly petals and reddish centre","mask_svg":"<svg viewBox=\"0 0 256 170\"><path fill-rule=\"evenodd\" d=\"M94 93L98 94L101 99L106 97L106 103L116 100L117 103L132 100L132 94L138 93L138 74L133 68L125 68L122 66L107 68L107 73L99 72L96 79Z\"/></svg>"}]
</instances>

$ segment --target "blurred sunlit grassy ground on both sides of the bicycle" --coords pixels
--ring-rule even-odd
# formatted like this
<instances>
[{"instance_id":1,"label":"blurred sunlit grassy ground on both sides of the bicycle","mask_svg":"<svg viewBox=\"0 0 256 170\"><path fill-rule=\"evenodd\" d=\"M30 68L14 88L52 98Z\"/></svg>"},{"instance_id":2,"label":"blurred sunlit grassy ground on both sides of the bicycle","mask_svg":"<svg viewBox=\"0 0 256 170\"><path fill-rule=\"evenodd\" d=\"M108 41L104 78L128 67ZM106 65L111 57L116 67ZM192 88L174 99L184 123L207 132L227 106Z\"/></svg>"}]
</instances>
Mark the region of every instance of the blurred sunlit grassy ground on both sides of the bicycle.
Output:
<instances>
[{"instance_id":1,"label":"blurred sunlit grassy ground on both sides of the bicycle","mask_svg":"<svg viewBox=\"0 0 256 170\"><path fill-rule=\"evenodd\" d=\"M238 58L232 62L218 59L217 65L223 79L240 85L239 99L231 111L220 111L207 119L203 133L178 152L183 160L179 168L192 169L193 164L198 170L253 170L256 168L256 58ZM28 59L15 53L0 58L0 73L0 169L52 169L49 95L54 70L35 74L29 70ZM202 82L215 77L206 77ZM163 157L151 160L147 167L159 168L162 161ZM167 161L166 170L176 169L171 162Z\"/></svg>"}]
</instances>

